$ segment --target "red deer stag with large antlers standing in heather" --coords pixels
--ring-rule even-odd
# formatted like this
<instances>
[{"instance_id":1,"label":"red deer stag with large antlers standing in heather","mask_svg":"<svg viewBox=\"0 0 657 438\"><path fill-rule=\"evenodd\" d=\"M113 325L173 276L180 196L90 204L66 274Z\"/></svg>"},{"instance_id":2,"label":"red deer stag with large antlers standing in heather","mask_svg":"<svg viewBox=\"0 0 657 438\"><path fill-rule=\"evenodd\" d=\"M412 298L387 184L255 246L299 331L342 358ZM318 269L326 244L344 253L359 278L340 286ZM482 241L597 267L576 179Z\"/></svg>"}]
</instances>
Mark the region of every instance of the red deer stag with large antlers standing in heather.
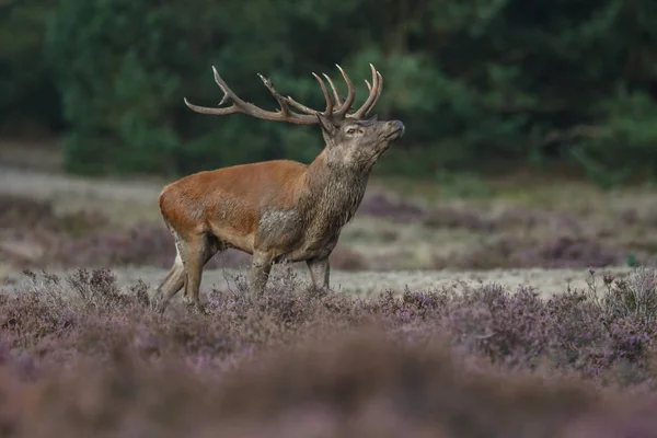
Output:
<instances>
[{"instance_id":1,"label":"red deer stag with large antlers standing in heather","mask_svg":"<svg viewBox=\"0 0 657 438\"><path fill-rule=\"evenodd\" d=\"M158 287L159 310L184 288L184 301L201 310L198 290L203 267L217 253L238 249L253 256L249 293L262 293L274 263L306 262L312 283L328 288L328 255L342 228L351 219L365 194L372 165L392 140L404 134L400 120L366 118L383 87L383 78L370 64L372 83L365 81L369 95L355 113L347 114L355 99L354 83L337 66L346 84L341 99L315 73L326 108L319 112L280 95L273 83L258 73L280 106L266 111L240 99L212 67L215 81L223 91L219 107L197 106L193 111L210 115L242 113L263 120L295 125L320 125L324 149L309 165L290 160L272 160L232 165L185 176L164 187L160 210L175 240L177 255L171 272ZM223 106L228 100L230 106ZM292 107L298 112L292 111Z\"/></svg>"}]
</instances>

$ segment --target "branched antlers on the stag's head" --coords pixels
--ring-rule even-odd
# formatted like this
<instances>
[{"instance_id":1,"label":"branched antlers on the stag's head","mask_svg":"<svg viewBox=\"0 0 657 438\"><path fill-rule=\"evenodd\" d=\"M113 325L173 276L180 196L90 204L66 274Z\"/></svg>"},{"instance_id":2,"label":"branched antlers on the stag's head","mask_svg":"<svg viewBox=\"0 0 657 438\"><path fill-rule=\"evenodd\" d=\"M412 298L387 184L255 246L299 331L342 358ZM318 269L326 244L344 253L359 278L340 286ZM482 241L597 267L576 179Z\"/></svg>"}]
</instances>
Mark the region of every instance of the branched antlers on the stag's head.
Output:
<instances>
[{"instance_id":1,"label":"branched antlers on the stag's head","mask_svg":"<svg viewBox=\"0 0 657 438\"><path fill-rule=\"evenodd\" d=\"M322 93L324 94L324 99L326 101L326 108L321 114L325 117L333 119L341 119L345 117L359 119L367 116L368 113L374 107L377 101L379 100L379 96L381 95L381 91L383 88L383 78L381 77L381 73L379 73L374 69L374 66L370 64L370 68L372 71L372 84L370 85L370 83L367 80L365 81L369 90L369 96L367 97L362 106L358 108L354 114L347 114L347 112L354 104L354 100L356 97L356 90L354 88L354 83L351 82L347 73L345 73L338 65L336 65L336 67L342 73L343 79L347 84L347 97L344 100L339 97L335 84L326 73L322 74L324 76L324 78L326 78L326 81L328 81L335 102L331 100L331 96L328 95L328 90L326 89L326 84L324 83L322 78L320 78L314 72L312 73L312 76L320 83ZM221 102L219 102L219 106L223 105L228 100L232 101L232 104L230 106L210 108L206 106L194 105L187 101L187 97L185 97L185 104L191 110L197 113L211 114L216 116L242 113L263 120L287 122L296 125L315 125L319 123L319 119L316 117L318 113L320 113L319 111L312 110L295 101L290 96L284 97L283 95L280 95L280 93L278 93L278 91L276 91L272 81L263 77L261 73L257 73L257 76L261 78L267 90L269 90L274 99L276 99L276 102L278 102L280 110L266 111L253 105L252 103L243 101L228 87L226 81L221 79L221 77L217 72L217 69L214 66L212 71L215 72L215 82L217 82L217 85L219 85L221 91L223 91L223 97L221 99ZM290 110L290 106L297 108L298 111L304 114L295 113Z\"/></svg>"}]
</instances>

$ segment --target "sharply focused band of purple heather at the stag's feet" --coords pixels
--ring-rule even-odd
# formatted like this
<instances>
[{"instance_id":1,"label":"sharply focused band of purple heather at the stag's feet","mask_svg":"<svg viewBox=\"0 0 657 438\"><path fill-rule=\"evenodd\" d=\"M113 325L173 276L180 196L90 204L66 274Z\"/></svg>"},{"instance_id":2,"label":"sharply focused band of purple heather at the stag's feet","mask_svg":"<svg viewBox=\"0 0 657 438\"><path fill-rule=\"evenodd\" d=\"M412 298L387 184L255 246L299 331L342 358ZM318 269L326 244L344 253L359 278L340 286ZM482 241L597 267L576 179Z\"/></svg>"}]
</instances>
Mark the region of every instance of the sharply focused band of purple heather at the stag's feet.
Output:
<instances>
[{"instance_id":1,"label":"sharply focused band of purple heather at the stag's feet","mask_svg":"<svg viewBox=\"0 0 657 438\"><path fill-rule=\"evenodd\" d=\"M36 276L31 275L38 288ZM160 318L151 311L146 285L120 290L107 269L79 269L66 281L55 276L46 280L39 293L3 299L4 328L14 335L27 332L38 339L79 326L71 321L79 320L72 315L80 310L84 318L137 318L146 326L149 319ZM53 288L58 288L59 296ZM76 299L62 299L65 293ZM376 299L354 300L301 286L291 270L281 279L273 278L260 297L247 296L245 278L237 278L233 290L209 292L207 309L207 315L163 320L171 333L178 334L175 344L184 344L187 350L206 348L216 344L217 333L222 333L224 344L266 344L288 339L309 326L349 327L377 321L390 328L436 328L448 334L453 345L506 367L533 368L548 360L591 378L619 362L647 369L655 334L653 320L636 313L608 313L581 292L541 300L531 288L511 293L502 286L486 285L460 292L407 290L401 297L389 291Z\"/></svg>"}]
</instances>

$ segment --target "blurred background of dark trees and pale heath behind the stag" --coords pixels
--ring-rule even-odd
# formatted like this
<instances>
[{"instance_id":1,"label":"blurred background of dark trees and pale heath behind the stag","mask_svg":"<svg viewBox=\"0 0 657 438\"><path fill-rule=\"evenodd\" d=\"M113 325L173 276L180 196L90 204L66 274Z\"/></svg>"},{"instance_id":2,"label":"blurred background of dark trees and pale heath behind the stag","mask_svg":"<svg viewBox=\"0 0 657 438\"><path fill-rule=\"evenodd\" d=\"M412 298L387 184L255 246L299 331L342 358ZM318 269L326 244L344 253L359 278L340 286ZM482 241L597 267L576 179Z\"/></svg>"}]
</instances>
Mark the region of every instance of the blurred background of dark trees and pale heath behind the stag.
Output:
<instances>
[{"instance_id":1,"label":"blurred background of dark trees and pale heath behind the stag","mask_svg":"<svg viewBox=\"0 0 657 438\"><path fill-rule=\"evenodd\" d=\"M652 0L0 0L0 262L168 267L162 184L322 147L316 127L189 111L183 97L221 100L211 66L260 106L276 103L258 72L321 108L312 71L344 90L339 64L360 104L369 62L384 78L376 112L406 135L376 166L339 267L657 252Z\"/></svg>"}]
</instances>

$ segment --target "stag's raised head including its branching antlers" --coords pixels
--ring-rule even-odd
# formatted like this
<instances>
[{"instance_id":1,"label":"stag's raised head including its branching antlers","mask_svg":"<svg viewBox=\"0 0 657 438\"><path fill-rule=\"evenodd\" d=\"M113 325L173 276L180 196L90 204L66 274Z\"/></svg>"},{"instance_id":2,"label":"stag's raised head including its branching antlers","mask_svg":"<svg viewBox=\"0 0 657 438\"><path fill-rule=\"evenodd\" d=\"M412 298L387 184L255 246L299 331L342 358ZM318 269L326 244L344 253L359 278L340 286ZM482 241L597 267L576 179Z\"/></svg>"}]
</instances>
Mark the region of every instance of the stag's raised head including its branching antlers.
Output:
<instances>
[{"instance_id":1,"label":"stag's raised head including its branching antlers","mask_svg":"<svg viewBox=\"0 0 657 438\"><path fill-rule=\"evenodd\" d=\"M269 79L258 73L258 77L280 106L275 112L262 110L240 99L219 76L215 67L212 67L215 81L223 91L223 99L219 103L219 106L223 105L228 100L232 104L226 107L210 108L191 104L187 99L185 99L185 104L193 111L201 114L228 115L242 113L263 120L287 122L295 125L319 124L324 137L324 155L327 165L342 166L357 172L368 172L379 157L388 150L390 141L402 137L405 127L400 120L380 122L376 115L367 118L383 90L383 77L371 64L372 82L370 84L368 80L365 80L369 95L357 111L349 114L348 111L354 104L356 90L345 71L339 66L336 65L336 67L347 84L346 99L339 97L331 78L322 73L333 93L332 99L326 82L316 73L312 73L318 80L326 101L326 107L323 112L309 108L290 96L283 96L276 91ZM300 113L291 108L296 108Z\"/></svg>"}]
</instances>

